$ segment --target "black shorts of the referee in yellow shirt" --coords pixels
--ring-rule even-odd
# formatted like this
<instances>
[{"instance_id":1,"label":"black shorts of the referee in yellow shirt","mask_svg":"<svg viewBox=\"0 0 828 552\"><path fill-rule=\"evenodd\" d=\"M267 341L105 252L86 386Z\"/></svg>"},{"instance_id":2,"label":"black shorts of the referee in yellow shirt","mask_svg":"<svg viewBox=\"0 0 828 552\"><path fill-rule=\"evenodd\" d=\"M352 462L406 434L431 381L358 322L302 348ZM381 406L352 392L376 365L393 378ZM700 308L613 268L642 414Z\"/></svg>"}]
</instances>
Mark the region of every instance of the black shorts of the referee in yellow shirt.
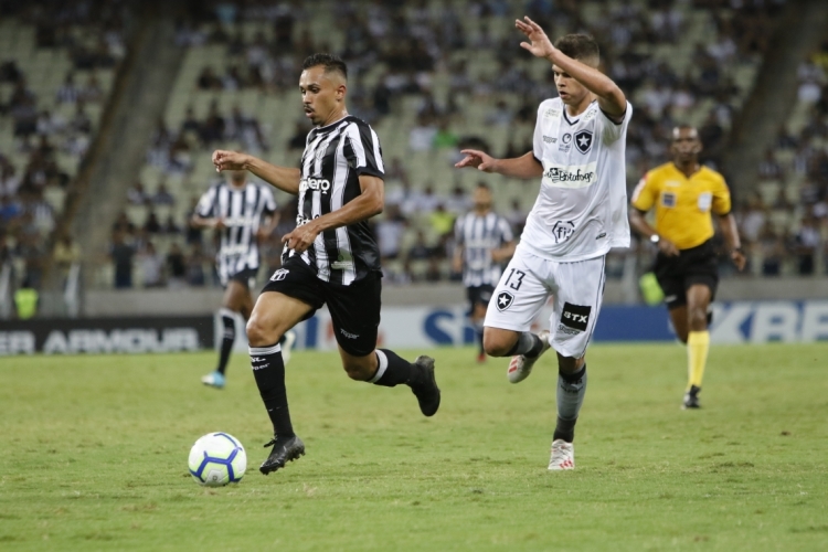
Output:
<instances>
[{"instance_id":1,"label":"black shorts of the referee in yellow shirt","mask_svg":"<svg viewBox=\"0 0 828 552\"><path fill-rule=\"evenodd\" d=\"M677 257L659 252L652 272L665 293L668 309L687 305L687 290L697 284L708 286L710 299L713 300L719 287L719 267L713 241L708 240L696 247L680 250Z\"/></svg>"}]
</instances>

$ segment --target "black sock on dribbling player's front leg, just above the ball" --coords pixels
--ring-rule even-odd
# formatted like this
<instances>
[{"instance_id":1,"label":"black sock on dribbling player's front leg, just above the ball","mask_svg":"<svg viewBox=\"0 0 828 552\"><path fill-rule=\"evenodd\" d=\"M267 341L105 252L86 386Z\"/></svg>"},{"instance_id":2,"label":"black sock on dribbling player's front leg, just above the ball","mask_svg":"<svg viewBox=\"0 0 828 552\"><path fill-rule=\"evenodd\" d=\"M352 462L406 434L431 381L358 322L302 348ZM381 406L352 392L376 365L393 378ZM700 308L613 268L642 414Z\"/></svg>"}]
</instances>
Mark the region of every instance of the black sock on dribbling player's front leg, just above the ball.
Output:
<instances>
[{"instance_id":1,"label":"black sock on dribbling player's front leg, just above the ball","mask_svg":"<svg viewBox=\"0 0 828 552\"><path fill-rule=\"evenodd\" d=\"M293 437L295 434L290 424L290 411L287 407L282 347L278 343L270 347L251 347L250 352L253 378L273 423L274 434L279 437Z\"/></svg>"}]
</instances>

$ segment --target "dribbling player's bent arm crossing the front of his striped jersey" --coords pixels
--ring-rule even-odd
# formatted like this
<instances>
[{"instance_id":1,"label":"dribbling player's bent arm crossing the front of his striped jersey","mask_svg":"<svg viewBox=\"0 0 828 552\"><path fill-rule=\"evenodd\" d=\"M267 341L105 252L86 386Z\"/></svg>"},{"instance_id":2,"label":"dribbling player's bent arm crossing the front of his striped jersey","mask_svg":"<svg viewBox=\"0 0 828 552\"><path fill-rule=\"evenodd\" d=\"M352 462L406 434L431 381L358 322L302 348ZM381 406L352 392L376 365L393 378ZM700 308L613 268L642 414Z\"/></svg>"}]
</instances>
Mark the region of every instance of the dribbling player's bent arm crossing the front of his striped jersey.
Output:
<instances>
[{"instance_id":1,"label":"dribbling player's bent arm crossing the front of his striped jersey","mask_svg":"<svg viewBox=\"0 0 828 552\"><path fill-rule=\"evenodd\" d=\"M316 236L326 230L355 224L382 213L385 202L383 181L379 177L360 176L361 193L340 209L308 221L282 236L288 248L301 253L314 244Z\"/></svg>"}]
</instances>

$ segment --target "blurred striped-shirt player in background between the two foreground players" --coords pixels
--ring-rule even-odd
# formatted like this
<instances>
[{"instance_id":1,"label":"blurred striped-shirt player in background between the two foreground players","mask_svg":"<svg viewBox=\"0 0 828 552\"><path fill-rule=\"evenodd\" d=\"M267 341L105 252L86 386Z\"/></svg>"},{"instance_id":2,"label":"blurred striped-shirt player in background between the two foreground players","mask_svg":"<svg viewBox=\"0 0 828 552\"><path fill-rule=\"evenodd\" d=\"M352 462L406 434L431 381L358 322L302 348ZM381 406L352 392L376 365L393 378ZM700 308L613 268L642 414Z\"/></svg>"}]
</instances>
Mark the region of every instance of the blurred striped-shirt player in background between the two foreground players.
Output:
<instances>
[{"instance_id":1,"label":"blurred striped-shirt player in background between the two foreground players","mask_svg":"<svg viewBox=\"0 0 828 552\"><path fill-rule=\"evenodd\" d=\"M469 301L469 319L480 350L478 362L486 360L482 346L484 318L495 285L514 253L514 236L509 221L491 210L491 190L479 184L474 193L474 210L455 223L454 272L463 270L463 285Z\"/></svg>"}]
</instances>

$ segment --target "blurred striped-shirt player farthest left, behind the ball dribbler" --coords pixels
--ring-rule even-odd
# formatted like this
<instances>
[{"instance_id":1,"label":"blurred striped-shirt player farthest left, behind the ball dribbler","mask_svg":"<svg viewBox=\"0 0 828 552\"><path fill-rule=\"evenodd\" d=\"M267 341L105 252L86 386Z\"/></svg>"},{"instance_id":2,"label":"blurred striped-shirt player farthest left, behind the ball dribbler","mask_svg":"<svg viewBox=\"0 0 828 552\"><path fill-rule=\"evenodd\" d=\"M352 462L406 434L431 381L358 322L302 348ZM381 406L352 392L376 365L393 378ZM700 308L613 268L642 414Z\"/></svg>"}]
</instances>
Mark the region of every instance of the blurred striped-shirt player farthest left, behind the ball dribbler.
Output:
<instances>
[{"instance_id":1,"label":"blurred striped-shirt player farthest left, behind the ball dribbler","mask_svg":"<svg viewBox=\"0 0 828 552\"><path fill-rule=\"evenodd\" d=\"M215 269L224 286L224 298L219 309L224 326L219 365L201 379L205 385L216 389L224 386L227 360L236 339L234 315L237 312L245 320L251 316L252 289L256 285L261 261L258 245L269 238L278 222L270 189L250 182L245 171L233 171L230 182L212 185L199 201L192 224L221 233ZM295 339L293 332L286 335L283 349L289 350Z\"/></svg>"}]
</instances>

